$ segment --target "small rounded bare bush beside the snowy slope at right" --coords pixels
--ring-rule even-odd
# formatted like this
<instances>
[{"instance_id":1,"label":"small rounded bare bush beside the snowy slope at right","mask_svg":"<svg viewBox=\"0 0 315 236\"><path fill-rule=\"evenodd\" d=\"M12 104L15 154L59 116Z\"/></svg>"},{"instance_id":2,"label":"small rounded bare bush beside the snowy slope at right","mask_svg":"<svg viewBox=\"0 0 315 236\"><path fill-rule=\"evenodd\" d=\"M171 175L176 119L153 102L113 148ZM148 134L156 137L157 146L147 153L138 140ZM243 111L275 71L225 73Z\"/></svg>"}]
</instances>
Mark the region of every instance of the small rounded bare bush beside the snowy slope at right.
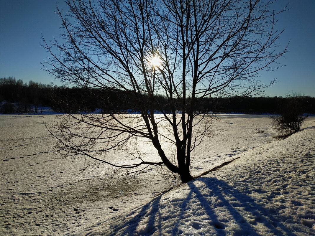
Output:
<instances>
[{"instance_id":1,"label":"small rounded bare bush beside the snowy slope at right","mask_svg":"<svg viewBox=\"0 0 315 236\"><path fill-rule=\"evenodd\" d=\"M305 97L300 94L289 93L277 115L270 116L271 125L279 134L278 138L286 138L301 130L303 122L307 119Z\"/></svg>"}]
</instances>

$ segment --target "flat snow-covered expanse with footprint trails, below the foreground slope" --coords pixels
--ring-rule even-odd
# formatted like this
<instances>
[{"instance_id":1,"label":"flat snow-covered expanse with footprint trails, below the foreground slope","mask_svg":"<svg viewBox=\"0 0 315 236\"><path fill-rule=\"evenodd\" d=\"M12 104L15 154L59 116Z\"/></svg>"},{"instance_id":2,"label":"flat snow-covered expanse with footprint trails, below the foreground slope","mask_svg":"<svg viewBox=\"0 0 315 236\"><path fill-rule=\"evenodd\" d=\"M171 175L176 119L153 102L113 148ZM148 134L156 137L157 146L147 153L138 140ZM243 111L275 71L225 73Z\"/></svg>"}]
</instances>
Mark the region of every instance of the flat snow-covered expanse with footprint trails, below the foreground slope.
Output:
<instances>
[{"instance_id":1,"label":"flat snow-covered expanse with footprint trails, below the foreground slope","mask_svg":"<svg viewBox=\"0 0 315 236\"><path fill-rule=\"evenodd\" d=\"M50 123L54 117L0 115L1 235L62 235L148 201L176 184L169 173L155 168L108 183L113 170L106 165L87 168L84 159L55 159L55 140L43 125L44 119ZM198 149L192 163L194 176L273 142L275 132L267 115L219 118L214 126L226 132ZM314 120L310 117L306 126ZM255 133L257 128L264 133ZM150 155L150 148L144 150Z\"/></svg>"}]
</instances>

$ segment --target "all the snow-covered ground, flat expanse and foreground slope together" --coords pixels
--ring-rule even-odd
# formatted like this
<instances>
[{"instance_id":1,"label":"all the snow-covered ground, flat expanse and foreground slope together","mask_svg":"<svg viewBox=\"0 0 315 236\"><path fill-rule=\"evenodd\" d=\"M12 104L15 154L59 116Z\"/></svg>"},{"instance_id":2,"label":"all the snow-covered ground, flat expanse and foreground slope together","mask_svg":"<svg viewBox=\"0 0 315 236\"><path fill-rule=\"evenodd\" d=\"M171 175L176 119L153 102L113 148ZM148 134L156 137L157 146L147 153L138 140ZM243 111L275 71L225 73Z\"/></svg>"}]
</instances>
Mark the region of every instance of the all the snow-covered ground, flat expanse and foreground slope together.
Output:
<instances>
[{"instance_id":1,"label":"all the snow-covered ground, flat expanse and foreground slope together","mask_svg":"<svg viewBox=\"0 0 315 236\"><path fill-rule=\"evenodd\" d=\"M0 235L315 235L315 117L283 141L266 115L219 117L192 174L238 159L157 196L167 173L108 183L108 166L54 159L54 115L0 115Z\"/></svg>"}]
</instances>

